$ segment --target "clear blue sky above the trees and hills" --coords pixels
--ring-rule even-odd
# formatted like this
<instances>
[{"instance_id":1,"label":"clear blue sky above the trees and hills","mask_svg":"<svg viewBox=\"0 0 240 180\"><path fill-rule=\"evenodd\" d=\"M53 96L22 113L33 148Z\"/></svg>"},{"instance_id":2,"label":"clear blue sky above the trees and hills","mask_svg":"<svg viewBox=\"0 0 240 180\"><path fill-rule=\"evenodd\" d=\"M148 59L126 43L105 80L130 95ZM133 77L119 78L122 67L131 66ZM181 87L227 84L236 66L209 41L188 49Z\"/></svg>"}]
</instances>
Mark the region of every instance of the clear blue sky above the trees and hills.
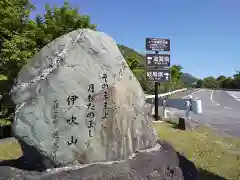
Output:
<instances>
[{"instance_id":1,"label":"clear blue sky above the trees and hills","mask_svg":"<svg viewBox=\"0 0 240 180\"><path fill-rule=\"evenodd\" d=\"M32 0L43 13L45 3ZM239 0L69 0L98 30L119 44L145 53L146 37L171 39L172 64L203 78L240 70ZM34 14L35 14L34 13Z\"/></svg>"}]
</instances>

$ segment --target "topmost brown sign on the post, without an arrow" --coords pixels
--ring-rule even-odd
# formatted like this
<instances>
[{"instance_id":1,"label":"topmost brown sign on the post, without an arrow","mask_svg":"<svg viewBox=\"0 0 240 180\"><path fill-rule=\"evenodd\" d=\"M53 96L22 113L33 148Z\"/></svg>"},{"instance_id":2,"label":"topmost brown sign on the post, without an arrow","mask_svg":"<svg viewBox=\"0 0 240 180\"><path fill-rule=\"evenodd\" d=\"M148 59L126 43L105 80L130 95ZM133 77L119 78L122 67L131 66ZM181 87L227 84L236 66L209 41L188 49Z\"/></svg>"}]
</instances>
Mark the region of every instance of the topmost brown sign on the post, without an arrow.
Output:
<instances>
[{"instance_id":1,"label":"topmost brown sign on the post, without an arrow","mask_svg":"<svg viewBox=\"0 0 240 180\"><path fill-rule=\"evenodd\" d=\"M147 51L170 51L170 40L162 38L146 38Z\"/></svg>"}]
</instances>

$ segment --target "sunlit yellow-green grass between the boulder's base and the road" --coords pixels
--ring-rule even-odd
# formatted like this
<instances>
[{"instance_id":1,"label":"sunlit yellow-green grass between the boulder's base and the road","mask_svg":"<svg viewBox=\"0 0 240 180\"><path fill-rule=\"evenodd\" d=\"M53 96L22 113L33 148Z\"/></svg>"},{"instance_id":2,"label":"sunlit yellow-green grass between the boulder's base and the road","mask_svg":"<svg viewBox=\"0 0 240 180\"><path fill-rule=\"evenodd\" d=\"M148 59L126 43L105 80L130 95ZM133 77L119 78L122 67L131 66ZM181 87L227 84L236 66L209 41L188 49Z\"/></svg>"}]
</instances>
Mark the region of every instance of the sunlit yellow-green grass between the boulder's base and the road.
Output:
<instances>
[{"instance_id":1,"label":"sunlit yellow-green grass between the boulder's base and the road","mask_svg":"<svg viewBox=\"0 0 240 180\"><path fill-rule=\"evenodd\" d=\"M240 179L240 139L217 137L207 127L195 131L181 131L173 124L155 124L161 139L193 161L197 168L219 175L227 180ZM200 174L199 180L211 179Z\"/></svg>"}]
</instances>

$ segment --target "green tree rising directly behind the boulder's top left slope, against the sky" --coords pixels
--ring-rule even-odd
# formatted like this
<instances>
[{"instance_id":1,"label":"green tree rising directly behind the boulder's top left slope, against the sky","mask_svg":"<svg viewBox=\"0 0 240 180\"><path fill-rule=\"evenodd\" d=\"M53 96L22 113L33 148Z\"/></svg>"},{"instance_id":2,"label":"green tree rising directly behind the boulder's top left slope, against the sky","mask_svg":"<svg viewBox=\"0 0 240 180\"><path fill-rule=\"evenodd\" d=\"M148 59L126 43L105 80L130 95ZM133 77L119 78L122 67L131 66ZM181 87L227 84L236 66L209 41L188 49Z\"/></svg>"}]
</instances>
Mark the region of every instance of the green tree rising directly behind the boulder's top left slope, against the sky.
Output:
<instances>
[{"instance_id":1,"label":"green tree rising directly behind the boulder's top left slope, against the sky","mask_svg":"<svg viewBox=\"0 0 240 180\"><path fill-rule=\"evenodd\" d=\"M52 40L80 28L96 30L96 25L90 23L90 16L80 15L77 8L72 8L68 1L62 7L45 5L45 14L35 18L35 39L37 48L41 49Z\"/></svg>"}]
</instances>

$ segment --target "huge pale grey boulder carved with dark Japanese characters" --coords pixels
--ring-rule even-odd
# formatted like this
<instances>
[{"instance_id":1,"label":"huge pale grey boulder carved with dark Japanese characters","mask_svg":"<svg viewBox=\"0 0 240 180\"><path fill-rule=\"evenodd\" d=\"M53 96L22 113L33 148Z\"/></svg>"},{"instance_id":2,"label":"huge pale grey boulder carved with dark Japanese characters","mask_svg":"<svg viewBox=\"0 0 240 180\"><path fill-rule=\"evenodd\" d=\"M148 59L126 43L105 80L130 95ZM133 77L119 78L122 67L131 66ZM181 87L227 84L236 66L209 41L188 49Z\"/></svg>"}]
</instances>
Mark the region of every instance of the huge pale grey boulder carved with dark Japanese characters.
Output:
<instances>
[{"instance_id":1,"label":"huge pale grey boulder carved with dark Japanese characters","mask_svg":"<svg viewBox=\"0 0 240 180\"><path fill-rule=\"evenodd\" d=\"M126 159L156 145L144 92L104 33L54 40L22 68L11 95L13 132L29 159L32 147L47 167Z\"/></svg>"}]
</instances>

